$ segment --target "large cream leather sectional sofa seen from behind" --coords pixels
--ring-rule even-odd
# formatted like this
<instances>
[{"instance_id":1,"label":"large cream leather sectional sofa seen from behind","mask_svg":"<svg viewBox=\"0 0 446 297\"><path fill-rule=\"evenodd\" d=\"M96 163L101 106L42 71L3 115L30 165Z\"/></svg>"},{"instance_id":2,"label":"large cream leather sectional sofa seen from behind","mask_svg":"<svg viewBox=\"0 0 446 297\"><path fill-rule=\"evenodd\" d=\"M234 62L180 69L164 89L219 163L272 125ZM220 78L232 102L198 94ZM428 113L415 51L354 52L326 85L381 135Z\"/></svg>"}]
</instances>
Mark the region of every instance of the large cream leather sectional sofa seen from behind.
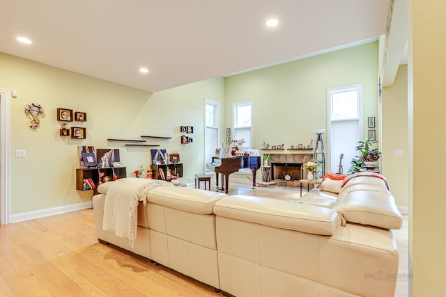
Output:
<instances>
[{"instance_id":1,"label":"large cream leather sectional sofa seen from behind","mask_svg":"<svg viewBox=\"0 0 446 297\"><path fill-rule=\"evenodd\" d=\"M139 202L133 245L102 230L107 192L125 183L118 179L93 197L96 231L233 296L394 296L401 214L385 179L347 179L327 179L298 200L153 188Z\"/></svg>"}]
</instances>

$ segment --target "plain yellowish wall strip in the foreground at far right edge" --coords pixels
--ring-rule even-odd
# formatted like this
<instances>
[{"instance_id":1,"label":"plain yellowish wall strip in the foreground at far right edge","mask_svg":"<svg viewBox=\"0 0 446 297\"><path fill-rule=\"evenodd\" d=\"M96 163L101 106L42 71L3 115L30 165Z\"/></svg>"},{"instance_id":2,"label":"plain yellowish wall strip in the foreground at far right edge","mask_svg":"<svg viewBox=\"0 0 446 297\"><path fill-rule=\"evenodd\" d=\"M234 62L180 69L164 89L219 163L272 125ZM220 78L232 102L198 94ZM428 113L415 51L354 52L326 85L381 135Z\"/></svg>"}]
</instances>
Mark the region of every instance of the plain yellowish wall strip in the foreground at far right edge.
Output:
<instances>
[{"instance_id":1,"label":"plain yellowish wall strip in the foreground at far right edge","mask_svg":"<svg viewBox=\"0 0 446 297\"><path fill-rule=\"evenodd\" d=\"M412 16L408 34L408 121L413 126L413 183L409 190L413 193L409 223L413 296L445 296L446 192L441 177L446 168L446 1L412 0L408 1L408 9Z\"/></svg>"}]
</instances>

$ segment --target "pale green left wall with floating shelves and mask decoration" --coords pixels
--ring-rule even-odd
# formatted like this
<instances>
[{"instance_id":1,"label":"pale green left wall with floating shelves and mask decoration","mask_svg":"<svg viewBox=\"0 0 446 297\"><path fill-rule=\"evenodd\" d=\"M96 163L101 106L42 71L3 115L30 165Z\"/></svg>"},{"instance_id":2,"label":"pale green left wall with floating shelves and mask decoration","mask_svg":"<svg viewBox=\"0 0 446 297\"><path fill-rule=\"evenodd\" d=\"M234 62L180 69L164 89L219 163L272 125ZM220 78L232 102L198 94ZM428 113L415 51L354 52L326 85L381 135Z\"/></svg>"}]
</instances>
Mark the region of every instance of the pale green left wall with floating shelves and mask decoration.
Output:
<instances>
[{"instance_id":1,"label":"pale green left wall with floating shelves and mask decoration","mask_svg":"<svg viewBox=\"0 0 446 297\"><path fill-rule=\"evenodd\" d=\"M171 136L160 144L167 152L180 152L184 164L181 182L203 172L204 99L224 101L224 80L209 79L160 93L147 93L116 83L68 72L0 53L0 88L17 90L10 98L10 214L50 209L91 200L91 191L76 191L77 147L119 148L128 176L140 164L148 168L150 147L124 147L107 138L138 139L141 135ZM42 104L45 118L36 131L29 129L24 107ZM59 136L58 107L87 113L85 140ZM180 125L194 126L193 143L180 144ZM15 157L26 150L26 158ZM199 152L197 154L197 152Z\"/></svg>"}]
</instances>

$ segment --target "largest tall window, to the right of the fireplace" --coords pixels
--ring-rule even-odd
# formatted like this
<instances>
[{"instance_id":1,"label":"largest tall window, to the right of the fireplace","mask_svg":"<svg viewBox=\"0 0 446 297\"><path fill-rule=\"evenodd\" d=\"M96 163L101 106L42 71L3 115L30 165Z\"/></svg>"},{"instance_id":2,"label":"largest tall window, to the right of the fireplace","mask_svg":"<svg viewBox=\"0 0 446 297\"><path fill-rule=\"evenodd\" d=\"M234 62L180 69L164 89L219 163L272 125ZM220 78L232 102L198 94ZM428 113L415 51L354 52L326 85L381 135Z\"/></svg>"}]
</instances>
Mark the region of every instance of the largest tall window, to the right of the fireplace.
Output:
<instances>
[{"instance_id":1,"label":"largest tall window, to the right of the fireplace","mask_svg":"<svg viewBox=\"0 0 446 297\"><path fill-rule=\"evenodd\" d=\"M329 89L328 106L328 171L339 172L342 162L345 174L362 138L362 85Z\"/></svg>"}]
</instances>

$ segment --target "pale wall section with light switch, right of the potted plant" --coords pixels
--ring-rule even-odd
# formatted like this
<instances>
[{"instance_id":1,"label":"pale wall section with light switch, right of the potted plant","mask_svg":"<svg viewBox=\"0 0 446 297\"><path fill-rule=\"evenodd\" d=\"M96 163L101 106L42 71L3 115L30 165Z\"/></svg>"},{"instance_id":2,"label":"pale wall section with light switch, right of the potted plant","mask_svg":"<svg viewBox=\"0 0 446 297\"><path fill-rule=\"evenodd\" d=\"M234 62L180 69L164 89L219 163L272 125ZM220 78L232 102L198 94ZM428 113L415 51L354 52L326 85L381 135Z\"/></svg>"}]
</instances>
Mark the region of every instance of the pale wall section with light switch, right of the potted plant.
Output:
<instances>
[{"instance_id":1,"label":"pale wall section with light switch, right of the potted plant","mask_svg":"<svg viewBox=\"0 0 446 297\"><path fill-rule=\"evenodd\" d=\"M383 88L383 175L399 206L408 207L407 64L400 65L394 84ZM395 150L403 156L395 156Z\"/></svg>"}]
</instances>

